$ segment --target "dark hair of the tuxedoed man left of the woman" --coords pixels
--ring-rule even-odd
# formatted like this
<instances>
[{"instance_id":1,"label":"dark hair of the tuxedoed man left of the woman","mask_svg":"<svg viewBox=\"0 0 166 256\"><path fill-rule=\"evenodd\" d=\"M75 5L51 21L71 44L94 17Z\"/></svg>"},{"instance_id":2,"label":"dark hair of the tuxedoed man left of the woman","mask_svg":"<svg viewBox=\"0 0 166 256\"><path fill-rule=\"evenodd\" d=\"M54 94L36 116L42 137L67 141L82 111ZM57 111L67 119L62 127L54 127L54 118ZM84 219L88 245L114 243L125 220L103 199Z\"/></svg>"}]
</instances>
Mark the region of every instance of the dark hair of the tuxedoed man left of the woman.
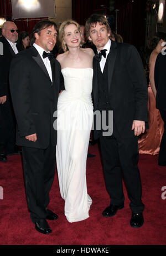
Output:
<instances>
[{"instance_id":1,"label":"dark hair of the tuxedoed man left of the woman","mask_svg":"<svg viewBox=\"0 0 166 256\"><path fill-rule=\"evenodd\" d=\"M53 21L40 21L37 24L35 24L33 31L32 31L32 35L31 35L31 39L30 39L30 44L32 45L35 42L35 33L38 33L40 36L40 32L45 29L45 28L49 28L54 26L54 28L56 29L56 31L58 32L58 27L56 26L56 23Z\"/></svg>"}]
</instances>

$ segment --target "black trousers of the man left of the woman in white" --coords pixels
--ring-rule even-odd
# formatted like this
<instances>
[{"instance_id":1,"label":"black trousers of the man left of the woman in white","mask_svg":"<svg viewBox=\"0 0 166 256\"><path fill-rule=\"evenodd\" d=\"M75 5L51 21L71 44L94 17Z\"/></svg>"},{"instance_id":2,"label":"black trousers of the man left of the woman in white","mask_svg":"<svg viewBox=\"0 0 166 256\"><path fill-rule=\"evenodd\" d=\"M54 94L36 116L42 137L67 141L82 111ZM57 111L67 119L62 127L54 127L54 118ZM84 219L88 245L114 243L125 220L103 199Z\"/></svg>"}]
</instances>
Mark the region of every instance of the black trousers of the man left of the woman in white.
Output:
<instances>
[{"instance_id":1,"label":"black trousers of the man left of the woman in white","mask_svg":"<svg viewBox=\"0 0 166 256\"><path fill-rule=\"evenodd\" d=\"M55 146L46 149L22 147L25 190L33 222L46 218L49 192L55 175Z\"/></svg>"}]
</instances>

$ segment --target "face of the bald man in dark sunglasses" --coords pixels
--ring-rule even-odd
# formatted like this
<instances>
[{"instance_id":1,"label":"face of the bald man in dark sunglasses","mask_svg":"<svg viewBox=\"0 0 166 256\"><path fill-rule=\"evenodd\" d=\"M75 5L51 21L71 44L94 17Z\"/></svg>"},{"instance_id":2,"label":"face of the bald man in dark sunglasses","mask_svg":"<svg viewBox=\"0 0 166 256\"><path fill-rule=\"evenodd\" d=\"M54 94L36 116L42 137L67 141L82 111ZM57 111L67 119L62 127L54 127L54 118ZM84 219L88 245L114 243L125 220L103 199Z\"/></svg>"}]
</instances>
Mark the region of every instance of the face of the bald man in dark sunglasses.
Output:
<instances>
[{"instance_id":1,"label":"face of the bald man in dark sunglasses","mask_svg":"<svg viewBox=\"0 0 166 256\"><path fill-rule=\"evenodd\" d=\"M14 22L7 22L5 24L5 27L2 29L2 34L4 37L6 37L9 41L12 43L15 43L18 40L18 33L16 32L17 26L14 24ZM14 30L12 33L11 30Z\"/></svg>"}]
</instances>

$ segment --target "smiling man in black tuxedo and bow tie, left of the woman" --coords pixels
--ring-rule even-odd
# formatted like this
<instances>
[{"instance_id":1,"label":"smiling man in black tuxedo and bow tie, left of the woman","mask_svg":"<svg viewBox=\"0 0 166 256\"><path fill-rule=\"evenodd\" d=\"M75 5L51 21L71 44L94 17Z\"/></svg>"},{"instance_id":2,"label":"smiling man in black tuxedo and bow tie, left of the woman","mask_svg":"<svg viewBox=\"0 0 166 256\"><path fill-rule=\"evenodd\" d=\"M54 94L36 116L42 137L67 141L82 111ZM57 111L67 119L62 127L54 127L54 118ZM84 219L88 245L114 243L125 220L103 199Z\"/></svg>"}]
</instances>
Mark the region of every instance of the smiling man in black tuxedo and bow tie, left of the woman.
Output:
<instances>
[{"instance_id":1,"label":"smiling man in black tuxedo and bow tie, left of the woman","mask_svg":"<svg viewBox=\"0 0 166 256\"><path fill-rule=\"evenodd\" d=\"M46 219L58 218L47 209L55 173L57 132L53 114L63 89L60 64L50 53L57 31L54 22L36 24L32 32L35 43L15 56L9 74L18 125L17 144L22 145L23 151L28 209L35 228L43 234L52 231Z\"/></svg>"}]
</instances>

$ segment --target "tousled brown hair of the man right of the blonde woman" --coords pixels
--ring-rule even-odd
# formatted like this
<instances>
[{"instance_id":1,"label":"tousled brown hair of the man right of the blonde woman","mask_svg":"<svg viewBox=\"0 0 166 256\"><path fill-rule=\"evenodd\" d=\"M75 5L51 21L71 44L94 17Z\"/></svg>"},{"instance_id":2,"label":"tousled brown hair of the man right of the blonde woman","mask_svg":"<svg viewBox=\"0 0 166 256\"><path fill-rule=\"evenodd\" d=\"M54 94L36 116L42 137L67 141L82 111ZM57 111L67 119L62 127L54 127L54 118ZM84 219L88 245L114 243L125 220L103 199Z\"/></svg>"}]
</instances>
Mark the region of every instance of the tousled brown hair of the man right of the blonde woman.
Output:
<instances>
[{"instance_id":1,"label":"tousled brown hair of the man right of the blonde woman","mask_svg":"<svg viewBox=\"0 0 166 256\"><path fill-rule=\"evenodd\" d=\"M90 36L90 28L95 27L97 22L99 24L105 25L107 28L107 32L111 31L110 25L108 24L107 18L104 15L94 13L92 14L86 21L85 29L86 29L86 37L87 39Z\"/></svg>"}]
</instances>

